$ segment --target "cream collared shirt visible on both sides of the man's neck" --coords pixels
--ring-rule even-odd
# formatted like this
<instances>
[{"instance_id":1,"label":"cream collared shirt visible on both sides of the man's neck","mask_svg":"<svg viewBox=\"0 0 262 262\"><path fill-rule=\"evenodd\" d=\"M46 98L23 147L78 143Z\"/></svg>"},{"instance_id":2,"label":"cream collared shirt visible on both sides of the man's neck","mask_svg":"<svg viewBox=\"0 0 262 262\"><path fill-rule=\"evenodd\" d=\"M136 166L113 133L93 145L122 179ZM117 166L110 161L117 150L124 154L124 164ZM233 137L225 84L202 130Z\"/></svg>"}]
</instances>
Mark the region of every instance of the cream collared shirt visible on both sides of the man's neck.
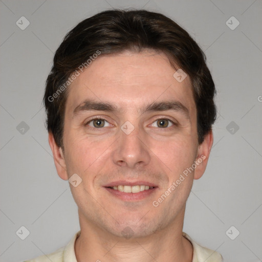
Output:
<instances>
[{"instance_id":1,"label":"cream collared shirt visible on both sides of the man's neck","mask_svg":"<svg viewBox=\"0 0 262 262\"><path fill-rule=\"evenodd\" d=\"M57 251L48 254L38 256L34 259L27 260L25 262L77 262L75 254L75 241L80 235L79 230L68 243L67 246L59 248ZM223 257L220 253L211 249L200 246L195 243L186 233L183 232L183 236L186 237L193 246L193 259L192 262L222 262Z\"/></svg>"}]
</instances>

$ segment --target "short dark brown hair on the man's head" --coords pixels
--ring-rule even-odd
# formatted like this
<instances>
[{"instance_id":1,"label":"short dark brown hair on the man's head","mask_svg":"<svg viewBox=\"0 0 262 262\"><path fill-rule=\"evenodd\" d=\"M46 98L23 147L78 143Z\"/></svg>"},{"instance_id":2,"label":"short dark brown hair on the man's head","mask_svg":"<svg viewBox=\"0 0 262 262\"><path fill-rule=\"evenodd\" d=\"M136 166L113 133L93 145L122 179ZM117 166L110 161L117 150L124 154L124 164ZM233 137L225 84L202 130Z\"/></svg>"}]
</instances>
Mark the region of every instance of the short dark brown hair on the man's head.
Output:
<instances>
[{"instance_id":1,"label":"short dark brown hair on the man's head","mask_svg":"<svg viewBox=\"0 0 262 262\"><path fill-rule=\"evenodd\" d=\"M63 39L47 78L43 102L47 128L63 149L63 122L68 89L57 93L79 65L98 50L103 54L152 49L163 52L186 72L197 106L198 142L204 141L216 118L215 86L198 44L177 23L146 10L107 10L81 21ZM63 88L62 90L64 90ZM60 89L61 91L61 89ZM54 94L57 94L54 96ZM52 98L52 99L51 99Z\"/></svg>"}]
</instances>

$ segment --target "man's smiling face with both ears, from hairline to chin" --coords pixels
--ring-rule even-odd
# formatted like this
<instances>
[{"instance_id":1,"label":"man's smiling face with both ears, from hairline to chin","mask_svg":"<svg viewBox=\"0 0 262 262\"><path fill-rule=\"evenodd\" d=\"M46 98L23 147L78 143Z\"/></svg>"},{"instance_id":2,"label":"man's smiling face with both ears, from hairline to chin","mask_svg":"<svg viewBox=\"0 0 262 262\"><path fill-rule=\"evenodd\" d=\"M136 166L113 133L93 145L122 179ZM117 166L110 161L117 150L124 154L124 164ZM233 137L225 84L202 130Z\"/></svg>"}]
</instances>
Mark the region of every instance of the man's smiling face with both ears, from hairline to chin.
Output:
<instances>
[{"instance_id":1,"label":"man's smiling face with both ears, from hairline to chin","mask_svg":"<svg viewBox=\"0 0 262 262\"><path fill-rule=\"evenodd\" d=\"M64 151L51 134L50 145L59 176L82 180L70 184L80 220L116 236L148 236L183 221L212 137L198 144L191 82L175 72L163 54L125 52L98 57L71 84Z\"/></svg>"}]
</instances>

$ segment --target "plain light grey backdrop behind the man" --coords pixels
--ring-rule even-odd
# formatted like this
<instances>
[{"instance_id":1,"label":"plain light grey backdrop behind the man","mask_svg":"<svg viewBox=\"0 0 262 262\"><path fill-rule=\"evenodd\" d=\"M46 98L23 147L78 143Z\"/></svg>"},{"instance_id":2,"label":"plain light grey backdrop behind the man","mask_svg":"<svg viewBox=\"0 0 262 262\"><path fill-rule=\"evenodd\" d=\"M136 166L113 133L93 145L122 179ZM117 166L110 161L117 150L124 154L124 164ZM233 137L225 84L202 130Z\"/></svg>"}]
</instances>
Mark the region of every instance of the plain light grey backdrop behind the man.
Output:
<instances>
[{"instance_id":1,"label":"plain light grey backdrop behind the man","mask_svg":"<svg viewBox=\"0 0 262 262\"><path fill-rule=\"evenodd\" d=\"M41 100L63 36L111 7L160 11L205 51L219 115L208 168L194 181L183 231L226 260L261 261L261 0L0 0L0 260L51 253L79 230L68 181L58 177L53 163ZM16 25L21 16L30 21L25 30ZM234 30L226 25L231 16L240 23ZM24 134L22 121L29 126ZM30 231L25 240L16 235L21 226ZM226 234L231 226L240 232L234 240Z\"/></svg>"}]
</instances>

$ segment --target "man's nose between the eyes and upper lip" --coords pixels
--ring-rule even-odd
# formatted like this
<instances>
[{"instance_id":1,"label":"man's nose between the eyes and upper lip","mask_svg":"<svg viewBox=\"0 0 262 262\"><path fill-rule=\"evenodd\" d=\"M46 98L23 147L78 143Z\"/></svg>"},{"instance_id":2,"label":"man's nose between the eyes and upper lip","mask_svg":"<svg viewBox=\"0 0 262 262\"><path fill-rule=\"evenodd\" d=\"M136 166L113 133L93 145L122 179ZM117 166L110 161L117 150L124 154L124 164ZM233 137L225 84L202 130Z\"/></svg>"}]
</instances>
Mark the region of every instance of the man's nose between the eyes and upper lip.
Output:
<instances>
[{"instance_id":1,"label":"man's nose between the eyes and upper lip","mask_svg":"<svg viewBox=\"0 0 262 262\"><path fill-rule=\"evenodd\" d=\"M116 165L128 168L140 168L150 162L150 149L147 145L146 134L139 127L126 134L119 130L120 137L115 144L113 161Z\"/></svg>"}]
</instances>

